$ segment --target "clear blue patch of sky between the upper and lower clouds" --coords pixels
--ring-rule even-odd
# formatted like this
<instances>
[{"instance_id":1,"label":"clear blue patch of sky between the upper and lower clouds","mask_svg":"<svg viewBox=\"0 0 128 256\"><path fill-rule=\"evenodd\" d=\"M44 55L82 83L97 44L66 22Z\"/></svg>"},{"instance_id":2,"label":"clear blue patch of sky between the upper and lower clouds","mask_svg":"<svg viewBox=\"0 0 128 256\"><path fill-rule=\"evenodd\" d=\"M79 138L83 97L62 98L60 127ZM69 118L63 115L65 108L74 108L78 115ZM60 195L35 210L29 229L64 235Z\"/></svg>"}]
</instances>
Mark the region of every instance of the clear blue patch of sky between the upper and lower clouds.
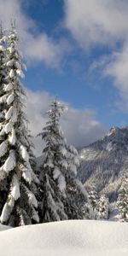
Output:
<instances>
[{"instance_id":1,"label":"clear blue patch of sky between the upper and lower clouds","mask_svg":"<svg viewBox=\"0 0 128 256\"><path fill-rule=\"evenodd\" d=\"M119 91L113 86L113 79L103 78L102 70L91 73L89 71L93 61L111 53L108 45L96 45L89 51L81 49L71 33L62 26L65 19L65 5L62 0L28 1L26 14L36 21L39 32L46 32L54 40L66 38L74 46L63 57L61 70L45 67L43 63L29 68L26 86L32 90L49 91L50 94L69 102L74 108L94 109L97 119L107 129L113 125L127 125L127 113L116 106ZM88 37L88 34L84 37Z\"/></svg>"}]
</instances>

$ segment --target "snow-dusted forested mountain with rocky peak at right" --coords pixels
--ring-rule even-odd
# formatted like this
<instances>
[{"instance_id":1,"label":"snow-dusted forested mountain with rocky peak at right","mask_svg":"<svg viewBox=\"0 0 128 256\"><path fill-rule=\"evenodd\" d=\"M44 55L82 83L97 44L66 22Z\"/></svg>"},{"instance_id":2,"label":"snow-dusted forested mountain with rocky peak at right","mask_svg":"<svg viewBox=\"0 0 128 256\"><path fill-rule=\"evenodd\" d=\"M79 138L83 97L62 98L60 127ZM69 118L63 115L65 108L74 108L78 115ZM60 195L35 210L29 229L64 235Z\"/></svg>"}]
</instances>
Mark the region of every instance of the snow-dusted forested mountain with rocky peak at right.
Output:
<instances>
[{"instance_id":1,"label":"snow-dusted forested mountain with rocky peak at right","mask_svg":"<svg viewBox=\"0 0 128 256\"><path fill-rule=\"evenodd\" d=\"M112 127L105 137L81 149L79 156L79 179L85 188L95 186L114 201L128 172L128 127Z\"/></svg>"}]
</instances>

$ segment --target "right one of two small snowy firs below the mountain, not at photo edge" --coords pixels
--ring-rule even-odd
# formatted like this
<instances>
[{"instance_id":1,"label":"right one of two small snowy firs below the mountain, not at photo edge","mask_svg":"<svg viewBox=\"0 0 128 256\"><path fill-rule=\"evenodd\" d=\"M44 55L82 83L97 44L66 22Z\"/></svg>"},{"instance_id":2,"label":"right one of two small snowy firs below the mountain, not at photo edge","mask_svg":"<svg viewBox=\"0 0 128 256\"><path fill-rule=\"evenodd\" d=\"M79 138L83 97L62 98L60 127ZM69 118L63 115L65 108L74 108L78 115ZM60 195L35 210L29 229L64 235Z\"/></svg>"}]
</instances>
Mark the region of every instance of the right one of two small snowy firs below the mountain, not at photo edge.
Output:
<instances>
[{"instance_id":1,"label":"right one of two small snowy firs below the mountain, not at photo edge","mask_svg":"<svg viewBox=\"0 0 128 256\"><path fill-rule=\"evenodd\" d=\"M101 195L98 202L98 219L108 219L109 202L106 195Z\"/></svg>"}]
</instances>

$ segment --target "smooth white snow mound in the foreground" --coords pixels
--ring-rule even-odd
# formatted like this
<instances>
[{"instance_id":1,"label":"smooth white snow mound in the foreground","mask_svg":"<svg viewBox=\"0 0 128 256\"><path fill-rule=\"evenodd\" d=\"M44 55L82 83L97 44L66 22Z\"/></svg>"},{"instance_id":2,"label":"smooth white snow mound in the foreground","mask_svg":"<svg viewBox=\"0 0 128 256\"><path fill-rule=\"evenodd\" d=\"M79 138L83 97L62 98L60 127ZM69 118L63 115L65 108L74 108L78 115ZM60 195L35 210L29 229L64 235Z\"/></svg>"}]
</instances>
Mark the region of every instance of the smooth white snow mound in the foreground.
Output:
<instances>
[{"instance_id":1,"label":"smooth white snow mound in the foreground","mask_svg":"<svg viewBox=\"0 0 128 256\"><path fill-rule=\"evenodd\" d=\"M77 220L4 230L0 255L127 256L128 224Z\"/></svg>"}]
</instances>

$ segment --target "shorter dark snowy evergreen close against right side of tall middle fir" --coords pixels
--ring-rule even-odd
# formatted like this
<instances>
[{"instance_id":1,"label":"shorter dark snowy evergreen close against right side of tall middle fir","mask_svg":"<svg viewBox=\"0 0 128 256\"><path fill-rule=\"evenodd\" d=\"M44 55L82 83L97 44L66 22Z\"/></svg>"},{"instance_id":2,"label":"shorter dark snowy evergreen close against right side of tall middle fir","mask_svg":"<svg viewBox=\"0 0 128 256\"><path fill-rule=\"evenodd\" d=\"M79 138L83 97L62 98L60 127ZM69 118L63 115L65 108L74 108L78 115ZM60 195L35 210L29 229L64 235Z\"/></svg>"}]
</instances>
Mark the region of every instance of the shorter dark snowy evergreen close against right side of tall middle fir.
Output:
<instances>
[{"instance_id":1,"label":"shorter dark snowy evergreen close against right side of tall middle fir","mask_svg":"<svg viewBox=\"0 0 128 256\"><path fill-rule=\"evenodd\" d=\"M77 167L79 166L79 154L76 148L64 143L66 148L67 166L61 172L64 172L66 181L66 197L64 198L65 211L68 219L90 218L90 204L88 194L83 184L77 178Z\"/></svg>"}]
</instances>

